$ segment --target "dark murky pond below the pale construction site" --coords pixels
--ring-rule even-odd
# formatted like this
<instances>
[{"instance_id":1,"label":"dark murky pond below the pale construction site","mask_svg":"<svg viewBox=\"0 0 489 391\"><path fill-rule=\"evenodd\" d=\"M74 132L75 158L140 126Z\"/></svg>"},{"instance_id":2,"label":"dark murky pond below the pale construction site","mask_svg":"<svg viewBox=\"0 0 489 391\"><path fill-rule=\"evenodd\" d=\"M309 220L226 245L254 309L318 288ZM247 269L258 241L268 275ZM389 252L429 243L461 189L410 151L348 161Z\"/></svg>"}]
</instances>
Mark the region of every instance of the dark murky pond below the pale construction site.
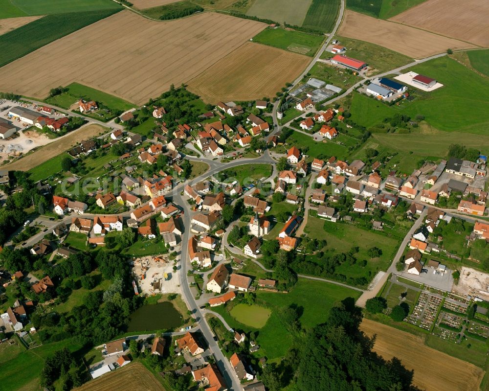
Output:
<instances>
[{"instance_id":1,"label":"dark murky pond below the pale construction site","mask_svg":"<svg viewBox=\"0 0 489 391\"><path fill-rule=\"evenodd\" d=\"M174 329L183 324L183 318L172 303L164 301L145 304L129 317L128 331L149 331Z\"/></svg>"}]
</instances>

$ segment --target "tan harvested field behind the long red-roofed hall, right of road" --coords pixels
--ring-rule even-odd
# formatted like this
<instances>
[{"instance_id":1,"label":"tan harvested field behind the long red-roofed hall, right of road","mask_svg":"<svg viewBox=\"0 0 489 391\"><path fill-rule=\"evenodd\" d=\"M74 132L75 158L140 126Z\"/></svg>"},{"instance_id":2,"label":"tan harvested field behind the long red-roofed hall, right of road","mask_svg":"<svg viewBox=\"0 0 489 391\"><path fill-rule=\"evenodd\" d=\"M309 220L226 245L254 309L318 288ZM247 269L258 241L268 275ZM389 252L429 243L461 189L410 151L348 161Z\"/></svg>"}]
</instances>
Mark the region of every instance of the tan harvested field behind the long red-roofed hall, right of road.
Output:
<instances>
[{"instance_id":1,"label":"tan harvested field behind the long red-roofed hall, right of road","mask_svg":"<svg viewBox=\"0 0 489 391\"><path fill-rule=\"evenodd\" d=\"M350 10L345 13L338 35L384 46L415 59L443 53L449 47L452 49L475 47L452 38L375 19Z\"/></svg>"}]
</instances>

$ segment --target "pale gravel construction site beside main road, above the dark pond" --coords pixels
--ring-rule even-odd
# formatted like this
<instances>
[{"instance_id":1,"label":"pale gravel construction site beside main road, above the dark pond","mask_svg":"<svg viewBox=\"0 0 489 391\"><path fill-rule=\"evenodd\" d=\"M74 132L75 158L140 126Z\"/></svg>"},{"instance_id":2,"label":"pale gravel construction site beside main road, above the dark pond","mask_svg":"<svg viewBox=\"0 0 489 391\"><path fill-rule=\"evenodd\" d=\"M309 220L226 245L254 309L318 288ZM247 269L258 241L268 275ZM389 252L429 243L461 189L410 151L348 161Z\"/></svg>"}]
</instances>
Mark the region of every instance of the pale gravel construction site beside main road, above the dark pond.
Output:
<instances>
[{"instance_id":1,"label":"pale gravel construction site beside main road, above the dark pond","mask_svg":"<svg viewBox=\"0 0 489 391\"><path fill-rule=\"evenodd\" d=\"M173 265L172 261L162 255L134 258L133 275L140 293L178 293L178 271L173 270Z\"/></svg>"}]
</instances>

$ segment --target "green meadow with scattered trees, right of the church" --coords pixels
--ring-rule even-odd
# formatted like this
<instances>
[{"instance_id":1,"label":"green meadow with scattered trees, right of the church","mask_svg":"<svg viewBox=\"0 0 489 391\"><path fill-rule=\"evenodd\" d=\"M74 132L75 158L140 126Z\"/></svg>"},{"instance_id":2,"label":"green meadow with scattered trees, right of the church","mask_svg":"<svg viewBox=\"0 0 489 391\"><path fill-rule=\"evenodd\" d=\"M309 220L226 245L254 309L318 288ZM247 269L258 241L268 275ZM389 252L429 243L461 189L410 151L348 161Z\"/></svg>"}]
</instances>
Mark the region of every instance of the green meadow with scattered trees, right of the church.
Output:
<instances>
[{"instance_id":1,"label":"green meadow with scattered trees, right of the church","mask_svg":"<svg viewBox=\"0 0 489 391\"><path fill-rule=\"evenodd\" d=\"M332 223L331 221L312 216L308 217L304 231L311 238L325 239L327 245L323 251L328 254L345 253L352 247L359 248L355 257L358 261L367 260L365 267L361 266L360 262L356 262L354 265L344 262L335 268L336 274L343 274L347 277L364 276L367 280L370 280L379 270L387 270L394 253L399 247L397 239L388 237L385 234L373 230L363 230L349 224ZM375 246L381 248L382 255L371 259L367 254L367 250ZM308 259L318 262L315 256L309 256Z\"/></svg>"}]
</instances>

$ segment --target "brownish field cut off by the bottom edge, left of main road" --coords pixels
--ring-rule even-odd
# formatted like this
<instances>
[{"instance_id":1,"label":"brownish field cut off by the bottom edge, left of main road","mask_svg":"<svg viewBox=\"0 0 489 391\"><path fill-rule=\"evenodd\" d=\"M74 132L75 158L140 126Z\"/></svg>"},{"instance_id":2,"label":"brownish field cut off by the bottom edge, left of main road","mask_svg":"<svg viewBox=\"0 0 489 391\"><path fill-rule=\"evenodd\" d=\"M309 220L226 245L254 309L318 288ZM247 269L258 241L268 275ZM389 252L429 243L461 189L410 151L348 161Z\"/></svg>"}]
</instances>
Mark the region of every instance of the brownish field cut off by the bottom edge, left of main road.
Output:
<instances>
[{"instance_id":1,"label":"brownish field cut off by the bottom edge, left of main road","mask_svg":"<svg viewBox=\"0 0 489 391\"><path fill-rule=\"evenodd\" d=\"M117 368L97 379L90 380L74 391L165 391L156 377L141 363Z\"/></svg>"}]
</instances>

